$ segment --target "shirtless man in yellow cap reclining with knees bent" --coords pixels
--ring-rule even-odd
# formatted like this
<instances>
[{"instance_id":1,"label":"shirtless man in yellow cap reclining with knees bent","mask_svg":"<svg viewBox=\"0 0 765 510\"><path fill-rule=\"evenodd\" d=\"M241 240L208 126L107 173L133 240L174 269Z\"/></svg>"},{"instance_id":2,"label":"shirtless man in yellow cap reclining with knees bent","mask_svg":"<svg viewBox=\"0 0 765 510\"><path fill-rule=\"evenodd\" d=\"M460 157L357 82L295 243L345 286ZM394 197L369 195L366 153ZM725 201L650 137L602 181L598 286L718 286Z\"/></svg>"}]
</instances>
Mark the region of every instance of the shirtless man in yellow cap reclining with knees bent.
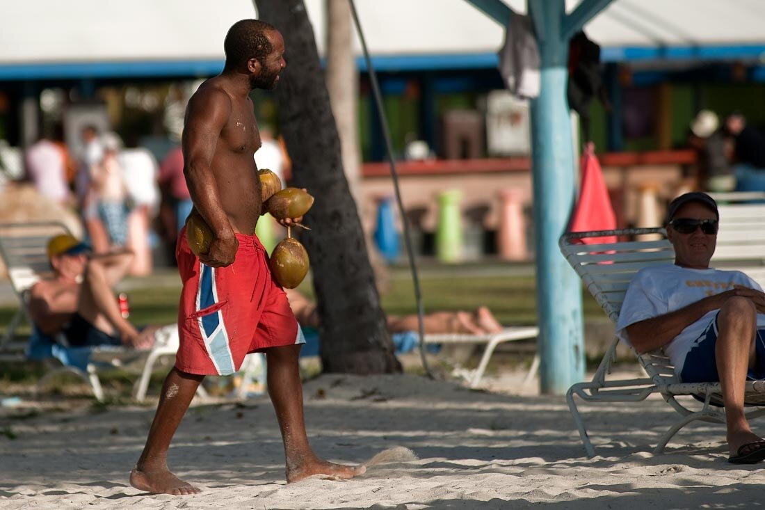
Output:
<instances>
[{"instance_id":1,"label":"shirtless man in yellow cap reclining with knees bent","mask_svg":"<svg viewBox=\"0 0 765 510\"><path fill-rule=\"evenodd\" d=\"M150 348L154 329L138 332L122 317L113 286L128 270L128 250L92 254L69 234L47 246L53 276L34 284L29 312L45 335L63 335L70 346L124 345Z\"/></svg>"}]
</instances>

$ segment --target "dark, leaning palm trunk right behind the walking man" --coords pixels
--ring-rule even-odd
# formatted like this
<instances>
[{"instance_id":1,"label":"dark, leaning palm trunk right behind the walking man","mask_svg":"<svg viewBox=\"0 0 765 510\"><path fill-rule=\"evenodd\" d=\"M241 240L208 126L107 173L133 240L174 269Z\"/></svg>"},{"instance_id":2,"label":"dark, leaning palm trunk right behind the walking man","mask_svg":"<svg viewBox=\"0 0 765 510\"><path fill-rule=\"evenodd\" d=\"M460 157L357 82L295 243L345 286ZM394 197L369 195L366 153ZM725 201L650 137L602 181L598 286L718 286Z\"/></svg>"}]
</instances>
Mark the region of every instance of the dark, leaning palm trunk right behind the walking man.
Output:
<instances>
[{"instance_id":1,"label":"dark, leaning palm trunk right behind the walking man","mask_svg":"<svg viewBox=\"0 0 765 510\"><path fill-rule=\"evenodd\" d=\"M401 371L393 355L364 234L343 173L340 139L303 0L256 0L259 18L285 38L288 67L276 91L295 185L316 202L301 236L314 275L326 372Z\"/></svg>"}]
</instances>

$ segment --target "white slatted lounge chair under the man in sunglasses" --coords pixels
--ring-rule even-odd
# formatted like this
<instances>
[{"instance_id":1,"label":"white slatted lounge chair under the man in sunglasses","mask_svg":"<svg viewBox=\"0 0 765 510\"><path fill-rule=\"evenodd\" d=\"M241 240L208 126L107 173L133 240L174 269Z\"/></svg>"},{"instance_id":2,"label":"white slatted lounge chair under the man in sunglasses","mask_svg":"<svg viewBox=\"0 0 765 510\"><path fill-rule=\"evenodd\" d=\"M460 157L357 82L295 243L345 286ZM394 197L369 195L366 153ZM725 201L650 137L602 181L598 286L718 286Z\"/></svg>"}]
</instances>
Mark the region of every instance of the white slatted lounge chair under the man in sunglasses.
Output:
<instances>
[{"instance_id":1,"label":"white slatted lounge chair under the man in sunglasses","mask_svg":"<svg viewBox=\"0 0 765 510\"><path fill-rule=\"evenodd\" d=\"M628 240L608 244L582 244L588 237L618 236ZM660 228L607 230L564 234L559 246L581 277L582 283L616 325L624 295L630 280L643 267L657 263L673 263L675 252ZM659 393L681 417L660 438L654 453L664 447L682 427L695 420L725 423L719 383L681 383L675 375L669 358L662 351L635 355L646 377L610 380L611 369L617 359L619 340L614 338L591 381L574 384L566 394L566 401L574 417L579 436L588 456L595 450L579 413L575 397L592 403L638 402L650 394ZM765 406L765 381L747 381L746 404ZM679 399L679 397L683 397ZM688 398L685 398L688 397ZM692 398L695 397L695 398ZM700 400L700 401L699 401ZM747 418L765 414L765 409L747 413Z\"/></svg>"}]
</instances>

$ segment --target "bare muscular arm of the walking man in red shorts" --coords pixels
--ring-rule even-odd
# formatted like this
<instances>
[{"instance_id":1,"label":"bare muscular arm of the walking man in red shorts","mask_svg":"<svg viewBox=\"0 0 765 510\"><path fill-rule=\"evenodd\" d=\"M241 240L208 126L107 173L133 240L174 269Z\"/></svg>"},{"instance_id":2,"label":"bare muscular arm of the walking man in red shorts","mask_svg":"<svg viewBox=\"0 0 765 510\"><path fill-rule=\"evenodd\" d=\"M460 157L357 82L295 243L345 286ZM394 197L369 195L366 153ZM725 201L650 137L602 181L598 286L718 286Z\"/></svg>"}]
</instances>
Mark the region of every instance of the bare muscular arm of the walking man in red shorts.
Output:
<instances>
[{"instance_id":1,"label":"bare muscular arm of the walking man in red shorts","mask_svg":"<svg viewBox=\"0 0 765 510\"><path fill-rule=\"evenodd\" d=\"M191 98L183 134L184 175L194 208L213 230L213 242L200 260L209 266L228 266L236 255L237 241L221 206L221 197L213 175L213 157L226 126L232 106L223 90L209 87Z\"/></svg>"}]
</instances>

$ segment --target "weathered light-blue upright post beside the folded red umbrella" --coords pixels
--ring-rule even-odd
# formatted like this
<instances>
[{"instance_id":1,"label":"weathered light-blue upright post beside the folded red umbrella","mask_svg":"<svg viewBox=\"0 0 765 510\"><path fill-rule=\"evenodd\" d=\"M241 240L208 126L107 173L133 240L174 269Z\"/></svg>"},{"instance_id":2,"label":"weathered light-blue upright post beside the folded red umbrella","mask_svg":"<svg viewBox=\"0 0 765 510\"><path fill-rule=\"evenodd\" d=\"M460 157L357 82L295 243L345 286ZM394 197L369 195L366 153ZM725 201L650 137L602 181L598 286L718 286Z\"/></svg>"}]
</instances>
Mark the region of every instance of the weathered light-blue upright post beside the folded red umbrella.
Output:
<instances>
[{"instance_id":1,"label":"weathered light-blue upright post beside the folded red umbrella","mask_svg":"<svg viewBox=\"0 0 765 510\"><path fill-rule=\"evenodd\" d=\"M540 390L565 394L584 379L581 283L558 249L575 201L574 148L566 101L565 0L528 0L539 39L541 90L531 103ZM539 30L538 30L539 32Z\"/></svg>"}]
</instances>

